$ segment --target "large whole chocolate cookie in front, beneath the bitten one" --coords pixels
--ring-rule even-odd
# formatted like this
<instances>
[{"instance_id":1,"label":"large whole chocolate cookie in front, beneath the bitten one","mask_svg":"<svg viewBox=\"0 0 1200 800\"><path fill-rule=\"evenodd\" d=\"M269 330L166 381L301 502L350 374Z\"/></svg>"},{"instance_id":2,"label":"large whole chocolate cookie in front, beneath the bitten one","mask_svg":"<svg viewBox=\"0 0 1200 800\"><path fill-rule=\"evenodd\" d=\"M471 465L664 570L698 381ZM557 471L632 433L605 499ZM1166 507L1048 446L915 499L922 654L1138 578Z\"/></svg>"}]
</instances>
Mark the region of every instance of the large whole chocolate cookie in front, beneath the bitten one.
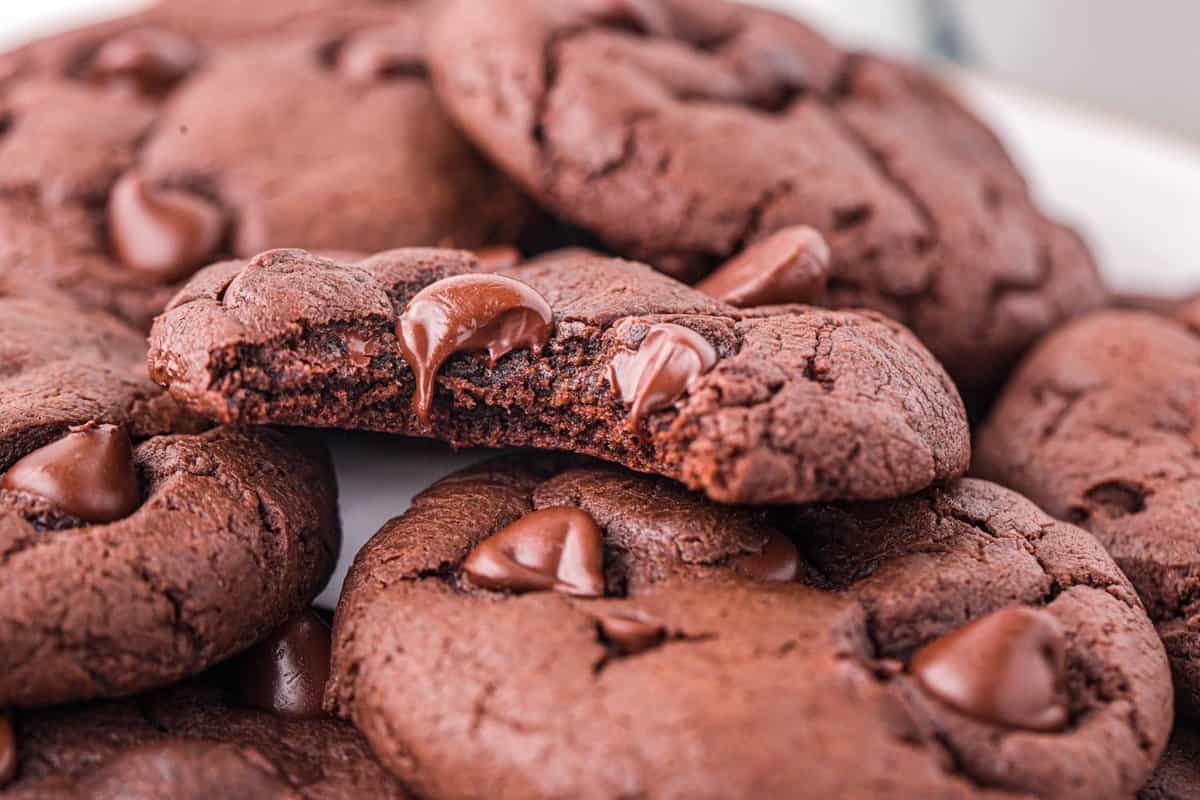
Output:
<instances>
[{"instance_id":1,"label":"large whole chocolate cookie in front, beneath the bitten one","mask_svg":"<svg viewBox=\"0 0 1200 800\"><path fill-rule=\"evenodd\" d=\"M1171 724L1132 587L1012 492L768 515L548 458L359 553L326 702L462 798L1127 798Z\"/></svg>"}]
</instances>

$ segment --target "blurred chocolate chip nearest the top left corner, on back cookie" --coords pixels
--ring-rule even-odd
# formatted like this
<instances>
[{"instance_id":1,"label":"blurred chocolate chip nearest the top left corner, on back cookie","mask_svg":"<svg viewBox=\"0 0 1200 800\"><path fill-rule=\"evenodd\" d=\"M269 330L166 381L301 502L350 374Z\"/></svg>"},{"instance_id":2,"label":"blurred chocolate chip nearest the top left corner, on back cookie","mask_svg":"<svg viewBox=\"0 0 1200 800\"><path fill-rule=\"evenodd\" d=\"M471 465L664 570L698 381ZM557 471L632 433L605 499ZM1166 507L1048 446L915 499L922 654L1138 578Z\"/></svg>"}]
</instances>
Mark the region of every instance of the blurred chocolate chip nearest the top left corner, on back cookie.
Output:
<instances>
[{"instance_id":1,"label":"blurred chocolate chip nearest the top left corner, on back cookie","mask_svg":"<svg viewBox=\"0 0 1200 800\"><path fill-rule=\"evenodd\" d=\"M160 95L182 80L199 64L191 41L164 30L143 28L104 42L88 65L94 83L130 83L146 95Z\"/></svg>"}]
</instances>

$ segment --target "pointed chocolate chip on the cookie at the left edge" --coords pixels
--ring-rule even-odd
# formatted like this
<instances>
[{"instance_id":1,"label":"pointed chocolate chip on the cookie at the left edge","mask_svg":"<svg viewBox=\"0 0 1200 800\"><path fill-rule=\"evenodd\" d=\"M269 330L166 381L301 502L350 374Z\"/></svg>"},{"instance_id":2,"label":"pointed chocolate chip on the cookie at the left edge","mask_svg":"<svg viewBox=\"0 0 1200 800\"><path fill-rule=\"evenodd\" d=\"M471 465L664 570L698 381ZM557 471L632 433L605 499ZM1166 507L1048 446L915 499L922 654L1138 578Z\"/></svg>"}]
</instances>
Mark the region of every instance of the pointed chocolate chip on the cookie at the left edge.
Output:
<instances>
[{"instance_id":1,"label":"pointed chocolate chip on the cookie at the left edge","mask_svg":"<svg viewBox=\"0 0 1200 800\"><path fill-rule=\"evenodd\" d=\"M8 468L0 487L44 498L90 523L115 522L142 503L133 444L115 425L85 425Z\"/></svg>"}]
</instances>

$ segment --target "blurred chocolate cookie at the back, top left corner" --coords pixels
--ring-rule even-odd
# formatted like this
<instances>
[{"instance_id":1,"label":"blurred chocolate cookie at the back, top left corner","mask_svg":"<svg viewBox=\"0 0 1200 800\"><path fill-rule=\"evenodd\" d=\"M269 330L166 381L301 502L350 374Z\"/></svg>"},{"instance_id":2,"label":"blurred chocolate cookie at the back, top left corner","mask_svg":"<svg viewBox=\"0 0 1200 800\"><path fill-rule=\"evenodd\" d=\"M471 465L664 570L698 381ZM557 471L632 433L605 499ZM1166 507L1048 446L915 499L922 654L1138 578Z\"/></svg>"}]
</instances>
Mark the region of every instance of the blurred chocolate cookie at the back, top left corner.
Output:
<instances>
[{"instance_id":1,"label":"blurred chocolate cookie at the back, top left corner","mask_svg":"<svg viewBox=\"0 0 1200 800\"><path fill-rule=\"evenodd\" d=\"M149 325L223 257L512 240L527 204L428 86L428 4L317 5L234 36L170 4L4 56L0 271Z\"/></svg>"}]
</instances>

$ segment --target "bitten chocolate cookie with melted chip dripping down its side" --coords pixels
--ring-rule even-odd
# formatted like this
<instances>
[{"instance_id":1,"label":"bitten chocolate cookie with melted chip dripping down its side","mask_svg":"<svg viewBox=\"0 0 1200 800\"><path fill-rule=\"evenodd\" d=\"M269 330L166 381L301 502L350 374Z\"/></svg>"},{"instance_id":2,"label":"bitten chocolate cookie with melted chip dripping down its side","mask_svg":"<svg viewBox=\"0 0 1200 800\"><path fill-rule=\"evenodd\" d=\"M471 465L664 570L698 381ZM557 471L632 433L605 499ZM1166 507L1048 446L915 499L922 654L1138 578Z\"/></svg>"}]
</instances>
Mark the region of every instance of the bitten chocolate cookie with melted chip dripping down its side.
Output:
<instances>
[{"instance_id":1,"label":"bitten chocolate cookie with melted chip dripping down its side","mask_svg":"<svg viewBox=\"0 0 1200 800\"><path fill-rule=\"evenodd\" d=\"M970 459L949 378L882 317L742 312L582 251L478 270L428 249L215 265L156 323L151 375L223 422L570 450L724 503L899 497Z\"/></svg>"}]
</instances>

